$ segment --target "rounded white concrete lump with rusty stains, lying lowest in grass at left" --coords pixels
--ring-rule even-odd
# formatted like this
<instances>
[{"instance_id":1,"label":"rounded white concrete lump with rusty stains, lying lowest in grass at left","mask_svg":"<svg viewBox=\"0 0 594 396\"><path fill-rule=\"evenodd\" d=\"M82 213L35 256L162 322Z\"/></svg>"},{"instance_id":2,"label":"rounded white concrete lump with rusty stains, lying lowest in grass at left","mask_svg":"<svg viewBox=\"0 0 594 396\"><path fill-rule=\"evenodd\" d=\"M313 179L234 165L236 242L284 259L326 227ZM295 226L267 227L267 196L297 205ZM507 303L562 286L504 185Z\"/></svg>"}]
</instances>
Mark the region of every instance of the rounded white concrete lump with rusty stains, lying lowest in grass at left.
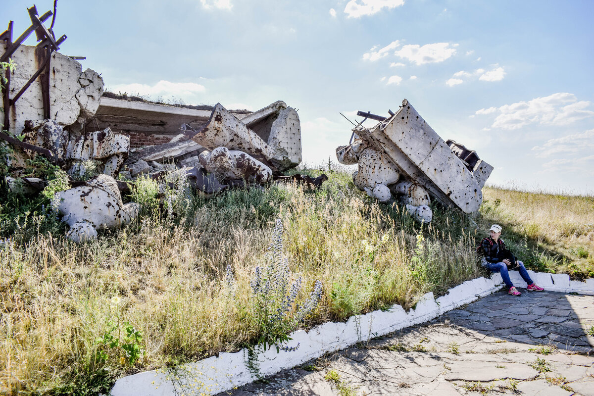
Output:
<instances>
[{"instance_id":1,"label":"rounded white concrete lump with rusty stains, lying lowest in grass at left","mask_svg":"<svg viewBox=\"0 0 594 396\"><path fill-rule=\"evenodd\" d=\"M58 211L70 226L67 237L74 242L93 239L97 229L128 223L138 215L138 204L125 204L118 183L108 175L98 175L86 185L58 192Z\"/></svg>"}]
</instances>

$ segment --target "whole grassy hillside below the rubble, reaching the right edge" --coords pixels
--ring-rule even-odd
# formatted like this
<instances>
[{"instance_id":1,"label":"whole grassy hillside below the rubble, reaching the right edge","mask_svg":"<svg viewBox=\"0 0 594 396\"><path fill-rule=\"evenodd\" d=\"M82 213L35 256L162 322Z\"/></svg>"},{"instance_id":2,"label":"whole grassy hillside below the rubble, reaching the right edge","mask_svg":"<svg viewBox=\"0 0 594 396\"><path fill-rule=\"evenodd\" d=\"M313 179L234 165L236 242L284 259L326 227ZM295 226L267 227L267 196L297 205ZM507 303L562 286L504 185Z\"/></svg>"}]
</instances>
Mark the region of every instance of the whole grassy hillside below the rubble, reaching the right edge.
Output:
<instances>
[{"instance_id":1,"label":"whole grassy hillside below the rubble, reaching the right edge","mask_svg":"<svg viewBox=\"0 0 594 396\"><path fill-rule=\"evenodd\" d=\"M4 189L0 394L105 392L119 376L289 331L266 327L254 303L256 268L270 262L278 218L287 279L301 276L296 303L322 285L304 328L393 303L407 308L483 274L474 248L491 223L528 268L594 275L593 197L485 188L476 218L433 205L434 220L422 226L397 202L358 191L350 175L324 172L319 190L279 182L210 199L176 195L175 210L160 208L154 185L140 181L128 198L145 203L137 221L81 245L64 239L41 201Z\"/></svg>"}]
</instances>

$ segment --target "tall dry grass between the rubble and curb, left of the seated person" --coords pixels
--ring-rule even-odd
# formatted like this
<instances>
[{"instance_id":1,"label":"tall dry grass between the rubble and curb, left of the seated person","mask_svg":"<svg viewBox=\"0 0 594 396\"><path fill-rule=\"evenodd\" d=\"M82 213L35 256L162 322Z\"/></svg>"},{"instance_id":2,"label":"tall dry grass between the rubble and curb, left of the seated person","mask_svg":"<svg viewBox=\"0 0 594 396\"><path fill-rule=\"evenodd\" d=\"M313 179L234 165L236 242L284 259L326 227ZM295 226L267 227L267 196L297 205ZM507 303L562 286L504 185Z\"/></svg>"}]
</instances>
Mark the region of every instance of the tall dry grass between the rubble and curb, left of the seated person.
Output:
<instances>
[{"instance_id":1,"label":"tall dry grass between the rubble and curb, left of the seated person","mask_svg":"<svg viewBox=\"0 0 594 396\"><path fill-rule=\"evenodd\" d=\"M197 199L175 223L145 217L81 245L51 235L4 243L0 393L68 393L68 384L80 387L105 366L111 378L252 343L258 334L249 281L277 217L285 224L292 271L304 280L299 299L315 280L324 285L306 325L392 303L409 307L429 290L444 292L478 274L466 235L448 246L429 228L415 252L418 225L396 205L380 207L364 197L347 179L332 175L318 192L273 185ZM234 291L223 281L229 263ZM114 296L121 299L115 307ZM134 368L121 365L116 353L97 360L97 339L116 313L143 335L146 354Z\"/></svg>"}]
</instances>

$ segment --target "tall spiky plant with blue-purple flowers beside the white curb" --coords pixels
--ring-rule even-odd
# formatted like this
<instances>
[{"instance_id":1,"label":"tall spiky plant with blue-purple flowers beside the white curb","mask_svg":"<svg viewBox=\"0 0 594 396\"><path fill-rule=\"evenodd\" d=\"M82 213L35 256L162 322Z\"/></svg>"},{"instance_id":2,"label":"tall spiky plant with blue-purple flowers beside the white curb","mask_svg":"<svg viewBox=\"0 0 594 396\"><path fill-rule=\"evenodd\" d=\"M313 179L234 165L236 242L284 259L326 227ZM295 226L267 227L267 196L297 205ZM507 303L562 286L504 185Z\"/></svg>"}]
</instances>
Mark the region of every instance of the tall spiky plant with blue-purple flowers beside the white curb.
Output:
<instances>
[{"instance_id":1,"label":"tall spiky plant with blue-purple flowers beside the white curb","mask_svg":"<svg viewBox=\"0 0 594 396\"><path fill-rule=\"evenodd\" d=\"M301 275L292 274L289 261L283 257L283 223L276 221L276 227L268 251L266 265L256 267L251 287L254 293L252 312L260 332L258 344L264 350L276 347L276 351L293 351L295 347L283 346L292 338L289 333L295 330L318 306L322 294L322 283L315 281L314 290L302 306L296 303L301 292Z\"/></svg>"}]
</instances>

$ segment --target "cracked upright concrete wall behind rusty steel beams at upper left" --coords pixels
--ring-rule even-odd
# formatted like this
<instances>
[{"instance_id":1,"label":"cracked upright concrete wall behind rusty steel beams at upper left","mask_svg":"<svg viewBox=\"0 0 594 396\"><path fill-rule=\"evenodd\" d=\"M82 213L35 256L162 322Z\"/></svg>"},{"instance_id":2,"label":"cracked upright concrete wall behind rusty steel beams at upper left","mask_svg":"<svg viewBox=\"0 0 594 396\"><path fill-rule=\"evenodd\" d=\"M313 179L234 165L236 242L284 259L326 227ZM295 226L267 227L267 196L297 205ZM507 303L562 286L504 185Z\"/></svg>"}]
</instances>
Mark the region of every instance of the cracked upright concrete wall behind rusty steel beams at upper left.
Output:
<instances>
[{"instance_id":1,"label":"cracked upright concrete wall behind rusty steel beams at upper left","mask_svg":"<svg viewBox=\"0 0 594 396\"><path fill-rule=\"evenodd\" d=\"M0 43L0 53L6 45ZM11 56L17 67L11 72L10 97L13 98L43 61L36 56L36 47L21 45ZM92 118L99 107L103 94L103 78L91 69L83 72L83 66L59 52L50 59L51 80L49 84L50 118L61 126L71 126L80 131L86 119ZM4 108L0 101L0 119ZM43 119L42 91L37 78L15 103L10 114L11 135L23 131L25 121Z\"/></svg>"}]
</instances>

